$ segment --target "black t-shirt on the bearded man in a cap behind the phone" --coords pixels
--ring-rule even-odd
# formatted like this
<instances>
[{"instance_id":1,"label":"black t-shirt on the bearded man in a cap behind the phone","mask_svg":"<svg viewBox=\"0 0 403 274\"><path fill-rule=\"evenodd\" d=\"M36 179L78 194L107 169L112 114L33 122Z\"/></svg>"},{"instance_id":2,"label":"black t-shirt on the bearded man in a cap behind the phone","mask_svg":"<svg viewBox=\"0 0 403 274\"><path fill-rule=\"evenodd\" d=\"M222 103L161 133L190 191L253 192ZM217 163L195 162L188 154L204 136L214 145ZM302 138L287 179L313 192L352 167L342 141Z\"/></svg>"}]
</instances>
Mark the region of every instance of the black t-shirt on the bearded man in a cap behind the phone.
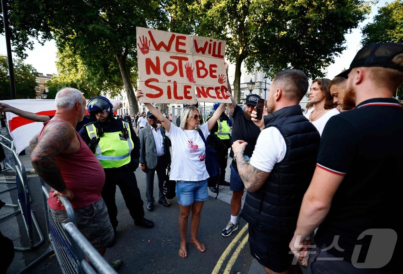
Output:
<instances>
[{"instance_id":1,"label":"black t-shirt on the bearded man in a cap behind the phone","mask_svg":"<svg viewBox=\"0 0 403 274\"><path fill-rule=\"evenodd\" d=\"M237 140L243 140L248 144L245 147L244 155L249 157L252 156L253 150L255 149L256 140L260 134L260 128L253 123L253 121L245 118L243 110L238 105L234 109L232 115L234 119L234 126L232 128L232 142ZM234 152L231 149L229 156L234 158ZM232 162L235 167L235 161ZM236 167L235 167L236 168Z\"/></svg>"}]
</instances>

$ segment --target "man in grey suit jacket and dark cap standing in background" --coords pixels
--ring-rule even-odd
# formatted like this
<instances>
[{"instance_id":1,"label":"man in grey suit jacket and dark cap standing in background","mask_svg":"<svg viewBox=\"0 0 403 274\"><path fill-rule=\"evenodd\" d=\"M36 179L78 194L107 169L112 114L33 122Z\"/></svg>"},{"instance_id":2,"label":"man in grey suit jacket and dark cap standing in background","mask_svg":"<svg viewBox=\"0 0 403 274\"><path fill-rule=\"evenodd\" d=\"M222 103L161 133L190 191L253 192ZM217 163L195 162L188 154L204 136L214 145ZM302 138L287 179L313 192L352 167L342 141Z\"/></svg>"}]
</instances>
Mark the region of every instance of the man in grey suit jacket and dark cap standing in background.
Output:
<instances>
[{"instance_id":1,"label":"man in grey suit jacket and dark cap standing in background","mask_svg":"<svg viewBox=\"0 0 403 274\"><path fill-rule=\"evenodd\" d=\"M150 111L147 112L148 126L142 128L140 138L140 164L141 170L146 173L145 197L147 199L147 210L154 210L154 174L157 172L158 188L160 190L158 203L164 207L170 207L162 193L162 186L165 180L165 169L171 164L171 153L169 151L169 140L165 136L165 130L158 127L157 118Z\"/></svg>"}]
</instances>

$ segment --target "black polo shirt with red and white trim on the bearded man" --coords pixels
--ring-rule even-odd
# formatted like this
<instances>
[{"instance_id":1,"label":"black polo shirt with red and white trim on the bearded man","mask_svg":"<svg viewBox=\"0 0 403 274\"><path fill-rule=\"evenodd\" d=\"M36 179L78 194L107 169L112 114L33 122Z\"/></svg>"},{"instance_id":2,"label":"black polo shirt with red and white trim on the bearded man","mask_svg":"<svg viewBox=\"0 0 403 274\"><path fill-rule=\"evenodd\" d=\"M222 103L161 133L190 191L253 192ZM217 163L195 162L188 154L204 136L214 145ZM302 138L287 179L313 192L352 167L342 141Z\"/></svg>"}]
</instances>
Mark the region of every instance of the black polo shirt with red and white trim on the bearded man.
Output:
<instances>
[{"instance_id":1,"label":"black polo shirt with red and white trim on the bearded man","mask_svg":"<svg viewBox=\"0 0 403 274\"><path fill-rule=\"evenodd\" d=\"M392 98L366 100L326 123L317 166L344 176L315 241L329 247L334 236L340 235L339 247L345 252L333 247L328 253L351 261L355 245L368 250L371 236L359 241L357 238L372 228L395 230L399 243L403 236L399 190L403 175L402 140L403 107ZM395 253L399 248L396 245Z\"/></svg>"}]
</instances>

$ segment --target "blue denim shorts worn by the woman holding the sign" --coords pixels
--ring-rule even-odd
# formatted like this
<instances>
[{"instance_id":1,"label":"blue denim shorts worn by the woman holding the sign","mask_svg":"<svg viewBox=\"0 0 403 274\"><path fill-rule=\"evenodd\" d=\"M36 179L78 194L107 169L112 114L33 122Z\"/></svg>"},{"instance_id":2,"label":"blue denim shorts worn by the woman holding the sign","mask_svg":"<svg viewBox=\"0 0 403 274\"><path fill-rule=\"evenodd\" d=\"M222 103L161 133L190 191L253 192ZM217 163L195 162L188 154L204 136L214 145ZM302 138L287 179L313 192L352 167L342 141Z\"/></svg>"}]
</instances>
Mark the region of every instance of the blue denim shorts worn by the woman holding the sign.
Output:
<instances>
[{"instance_id":1,"label":"blue denim shorts worn by the woman holding the sign","mask_svg":"<svg viewBox=\"0 0 403 274\"><path fill-rule=\"evenodd\" d=\"M178 203L184 207L193 204L193 201L208 200L207 179L202 181L177 181L175 192Z\"/></svg>"}]
</instances>

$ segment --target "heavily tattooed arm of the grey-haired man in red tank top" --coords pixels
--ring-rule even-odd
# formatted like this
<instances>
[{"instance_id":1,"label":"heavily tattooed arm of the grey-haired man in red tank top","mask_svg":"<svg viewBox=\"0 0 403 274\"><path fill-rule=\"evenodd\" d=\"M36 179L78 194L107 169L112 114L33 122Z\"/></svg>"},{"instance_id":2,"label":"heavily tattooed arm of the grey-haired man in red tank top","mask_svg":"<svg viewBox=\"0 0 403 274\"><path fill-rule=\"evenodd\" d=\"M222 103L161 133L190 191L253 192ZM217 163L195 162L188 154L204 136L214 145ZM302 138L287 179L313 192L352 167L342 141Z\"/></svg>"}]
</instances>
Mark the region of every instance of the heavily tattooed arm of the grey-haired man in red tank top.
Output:
<instances>
[{"instance_id":1,"label":"heavily tattooed arm of the grey-haired man in red tank top","mask_svg":"<svg viewBox=\"0 0 403 274\"><path fill-rule=\"evenodd\" d=\"M71 125L64 122L51 123L46 128L41 140L36 141L31 153L31 162L35 172L46 184L59 192L66 189L66 184L56 157L72 142L74 137L75 132ZM35 142L34 139L31 142Z\"/></svg>"}]
</instances>

